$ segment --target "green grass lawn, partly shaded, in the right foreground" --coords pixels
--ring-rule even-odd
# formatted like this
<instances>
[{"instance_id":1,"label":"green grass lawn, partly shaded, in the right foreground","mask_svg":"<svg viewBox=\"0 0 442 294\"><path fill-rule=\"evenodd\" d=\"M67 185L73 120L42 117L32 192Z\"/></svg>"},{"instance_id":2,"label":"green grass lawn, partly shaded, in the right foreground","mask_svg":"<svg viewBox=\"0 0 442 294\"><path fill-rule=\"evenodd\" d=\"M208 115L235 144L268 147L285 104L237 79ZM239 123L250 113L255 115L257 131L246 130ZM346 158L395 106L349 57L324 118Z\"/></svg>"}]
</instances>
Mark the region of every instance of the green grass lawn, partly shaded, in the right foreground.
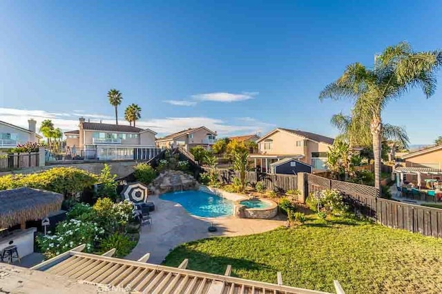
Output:
<instances>
[{"instance_id":1,"label":"green grass lawn, partly shaded, in the right foreground","mask_svg":"<svg viewBox=\"0 0 442 294\"><path fill-rule=\"evenodd\" d=\"M349 219L327 223L307 216L294 229L182 244L164 264L189 269L334 292L441 293L442 240Z\"/></svg>"}]
</instances>

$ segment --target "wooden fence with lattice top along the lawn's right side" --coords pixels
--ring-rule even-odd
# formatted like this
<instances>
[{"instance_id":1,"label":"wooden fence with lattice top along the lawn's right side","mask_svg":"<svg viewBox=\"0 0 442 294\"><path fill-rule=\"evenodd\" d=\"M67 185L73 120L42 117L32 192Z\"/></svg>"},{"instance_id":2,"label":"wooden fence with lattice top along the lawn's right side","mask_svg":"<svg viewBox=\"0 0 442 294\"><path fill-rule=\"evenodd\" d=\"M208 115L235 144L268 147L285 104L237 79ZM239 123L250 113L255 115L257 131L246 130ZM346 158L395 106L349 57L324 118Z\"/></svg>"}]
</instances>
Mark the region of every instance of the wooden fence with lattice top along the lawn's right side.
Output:
<instances>
[{"instance_id":1,"label":"wooden fence with lattice top along the lawn's right side","mask_svg":"<svg viewBox=\"0 0 442 294\"><path fill-rule=\"evenodd\" d=\"M337 189L356 214L394 229L442 238L442 209L377 198L371 186L307 175L307 193Z\"/></svg>"}]
</instances>

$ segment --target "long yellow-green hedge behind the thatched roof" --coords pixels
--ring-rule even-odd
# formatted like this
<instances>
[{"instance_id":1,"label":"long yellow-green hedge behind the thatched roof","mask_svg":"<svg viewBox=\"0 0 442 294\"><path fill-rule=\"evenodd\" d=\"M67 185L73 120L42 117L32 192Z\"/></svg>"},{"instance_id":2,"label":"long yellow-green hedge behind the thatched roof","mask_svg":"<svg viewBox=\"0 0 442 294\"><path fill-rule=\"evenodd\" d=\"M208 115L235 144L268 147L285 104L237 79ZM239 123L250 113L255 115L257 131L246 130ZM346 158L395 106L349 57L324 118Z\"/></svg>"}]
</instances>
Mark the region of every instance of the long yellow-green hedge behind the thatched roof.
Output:
<instances>
[{"instance_id":1,"label":"long yellow-green hedge behind the thatched roof","mask_svg":"<svg viewBox=\"0 0 442 294\"><path fill-rule=\"evenodd\" d=\"M0 177L0 190L30 187L73 196L97 182L97 176L74 167L53 167L35 174Z\"/></svg>"}]
</instances>

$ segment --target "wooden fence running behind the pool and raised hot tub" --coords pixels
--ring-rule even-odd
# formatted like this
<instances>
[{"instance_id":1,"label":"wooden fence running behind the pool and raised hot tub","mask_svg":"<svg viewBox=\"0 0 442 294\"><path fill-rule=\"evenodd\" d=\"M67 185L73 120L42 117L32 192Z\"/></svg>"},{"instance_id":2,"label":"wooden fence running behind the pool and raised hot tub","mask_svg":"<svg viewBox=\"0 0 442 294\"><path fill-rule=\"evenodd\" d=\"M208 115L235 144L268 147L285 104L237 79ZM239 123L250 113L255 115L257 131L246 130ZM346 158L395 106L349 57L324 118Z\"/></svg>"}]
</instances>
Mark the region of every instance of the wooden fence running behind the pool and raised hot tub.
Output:
<instances>
[{"instance_id":1,"label":"wooden fence running behind the pool and raised hot tub","mask_svg":"<svg viewBox=\"0 0 442 294\"><path fill-rule=\"evenodd\" d=\"M210 171L209 167L203 167L204 171ZM218 180L222 184L231 184L234 178L239 178L238 171L231 169L218 169ZM246 172L246 182L251 185L255 185L257 182L262 181L265 184L267 191L281 191L286 192L288 190L298 189L298 176L295 175L282 175L282 174L262 174L256 171Z\"/></svg>"}]
</instances>

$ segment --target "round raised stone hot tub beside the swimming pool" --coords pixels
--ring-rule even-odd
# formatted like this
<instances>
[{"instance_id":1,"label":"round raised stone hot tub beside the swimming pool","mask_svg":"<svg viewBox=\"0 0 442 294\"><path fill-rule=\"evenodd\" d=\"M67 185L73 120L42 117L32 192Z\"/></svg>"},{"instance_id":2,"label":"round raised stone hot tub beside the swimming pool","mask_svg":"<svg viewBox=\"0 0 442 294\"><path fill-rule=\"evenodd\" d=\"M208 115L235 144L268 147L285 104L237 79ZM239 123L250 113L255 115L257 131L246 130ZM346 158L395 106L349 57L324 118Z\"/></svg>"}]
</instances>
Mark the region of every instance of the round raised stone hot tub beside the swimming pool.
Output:
<instances>
[{"instance_id":1,"label":"round raised stone hot tub beside the swimming pool","mask_svg":"<svg viewBox=\"0 0 442 294\"><path fill-rule=\"evenodd\" d=\"M271 219L278 213L278 204L269 199L245 199L235 202L235 216L238 218Z\"/></svg>"}]
</instances>

